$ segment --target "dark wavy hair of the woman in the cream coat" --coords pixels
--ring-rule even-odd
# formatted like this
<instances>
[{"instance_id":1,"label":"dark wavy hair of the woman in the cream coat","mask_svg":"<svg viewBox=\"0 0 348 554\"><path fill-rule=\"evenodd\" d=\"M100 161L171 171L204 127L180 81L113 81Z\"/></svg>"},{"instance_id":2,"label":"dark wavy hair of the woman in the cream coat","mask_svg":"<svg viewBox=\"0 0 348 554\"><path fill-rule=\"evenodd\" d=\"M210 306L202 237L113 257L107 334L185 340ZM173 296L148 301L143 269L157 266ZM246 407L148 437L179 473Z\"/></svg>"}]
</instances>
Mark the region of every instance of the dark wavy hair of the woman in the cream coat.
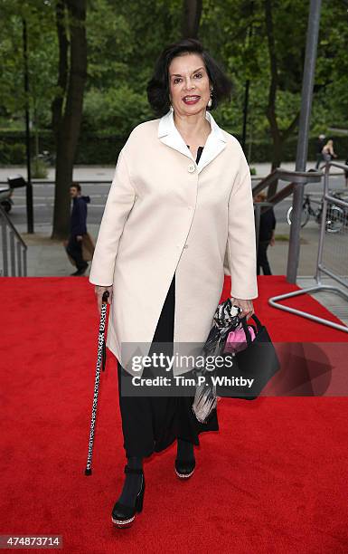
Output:
<instances>
[{"instance_id":1,"label":"dark wavy hair of the woman in the cream coat","mask_svg":"<svg viewBox=\"0 0 348 554\"><path fill-rule=\"evenodd\" d=\"M195 53L202 57L209 81L212 84L212 106L214 110L222 100L230 101L232 84L221 66L213 60L210 53L204 50L202 43L196 39L183 39L165 47L155 62L155 72L147 83L147 100L155 115L162 117L170 109L169 99L169 65L174 58L186 53Z\"/></svg>"}]
</instances>

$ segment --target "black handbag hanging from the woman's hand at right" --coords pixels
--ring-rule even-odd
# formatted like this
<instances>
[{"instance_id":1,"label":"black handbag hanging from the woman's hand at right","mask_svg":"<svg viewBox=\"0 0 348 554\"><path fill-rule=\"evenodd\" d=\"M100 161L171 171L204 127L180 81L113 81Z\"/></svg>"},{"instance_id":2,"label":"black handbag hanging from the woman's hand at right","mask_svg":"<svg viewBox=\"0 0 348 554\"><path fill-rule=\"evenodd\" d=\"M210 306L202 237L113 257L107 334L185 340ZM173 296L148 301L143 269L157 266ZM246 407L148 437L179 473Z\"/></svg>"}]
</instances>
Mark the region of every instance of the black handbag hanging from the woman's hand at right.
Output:
<instances>
[{"instance_id":1,"label":"black handbag hanging from the woman's hand at right","mask_svg":"<svg viewBox=\"0 0 348 554\"><path fill-rule=\"evenodd\" d=\"M251 340L248 329L250 324L247 325L245 317L241 318L240 323L247 340L247 348L232 355L231 367L224 364L217 370L218 376L225 377L220 381L221 385L218 384L216 387L217 396L254 400L266 387L270 378L280 369L277 351L272 344L268 330L255 314L251 317L257 324L256 327L251 325L255 331L255 339ZM227 356L231 356L231 354L223 354L224 358Z\"/></svg>"}]
</instances>

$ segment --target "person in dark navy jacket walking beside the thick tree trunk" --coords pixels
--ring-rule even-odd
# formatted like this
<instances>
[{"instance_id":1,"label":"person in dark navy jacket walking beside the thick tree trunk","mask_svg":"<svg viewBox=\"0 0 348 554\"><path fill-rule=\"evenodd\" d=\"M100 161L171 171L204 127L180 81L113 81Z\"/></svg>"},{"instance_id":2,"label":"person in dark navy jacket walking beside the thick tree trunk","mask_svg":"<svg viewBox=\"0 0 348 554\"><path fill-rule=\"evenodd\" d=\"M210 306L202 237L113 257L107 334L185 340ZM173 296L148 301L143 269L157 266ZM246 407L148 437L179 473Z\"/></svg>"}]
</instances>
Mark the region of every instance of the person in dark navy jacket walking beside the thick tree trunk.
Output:
<instances>
[{"instance_id":1,"label":"person in dark navy jacket walking beside the thick tree trunk","mask_svg":"<svg viewBox=\"0 0 348 554\"><path fill-rule=\"evenodd\" d=\"M76 263L77 271L71 273L74 277L83 275L89 264L82 258L82 238L87 233L87 205L89 196L81 196L80 183L72 183L71 186L72 210L71 210L71 234L67 244L67 253Z\"/></svg>"}]
</instances>

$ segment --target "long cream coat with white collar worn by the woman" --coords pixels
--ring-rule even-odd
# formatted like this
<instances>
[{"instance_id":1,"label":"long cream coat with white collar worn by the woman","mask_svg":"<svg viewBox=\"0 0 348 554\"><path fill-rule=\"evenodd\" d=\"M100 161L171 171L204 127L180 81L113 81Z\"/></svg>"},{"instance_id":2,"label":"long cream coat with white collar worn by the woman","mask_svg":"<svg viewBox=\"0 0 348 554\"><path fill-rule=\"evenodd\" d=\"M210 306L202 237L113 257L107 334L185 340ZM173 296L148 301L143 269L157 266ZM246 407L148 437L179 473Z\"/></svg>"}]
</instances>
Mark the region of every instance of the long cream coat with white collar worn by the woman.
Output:
<instances>
[{"instance_id":1,"label":"long cream coat with white collar worn by the woman","mask_svg":"<svg viewBox=\"0 0 348 554\"><path fill-rule=\"evenodd\" d=\"M142 370L129 365L131 355L148 353L174 272L176 352L207 338L225 252L231 296L258 296L249 167L238 140L209 111L206 118L198 166L172 111L133 129L118 156L89 282L113 285L107 346L133 375Z\"/></svg>"}]
</instances>

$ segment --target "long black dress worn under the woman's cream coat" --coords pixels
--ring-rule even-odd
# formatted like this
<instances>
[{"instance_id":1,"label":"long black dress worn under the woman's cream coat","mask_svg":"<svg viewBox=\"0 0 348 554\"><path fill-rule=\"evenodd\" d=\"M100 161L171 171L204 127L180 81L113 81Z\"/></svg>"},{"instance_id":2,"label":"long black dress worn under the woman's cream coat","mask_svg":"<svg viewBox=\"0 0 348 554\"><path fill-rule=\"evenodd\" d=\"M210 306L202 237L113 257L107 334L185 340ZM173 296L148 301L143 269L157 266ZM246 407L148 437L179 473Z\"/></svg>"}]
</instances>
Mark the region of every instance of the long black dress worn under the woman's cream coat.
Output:
<instances>
[{"instance_id":1,"label":"long black dress worn under the woman's cream coat","mask_svg":"<svg viewBox=\"0 0 348 554\"><path fill-rule=\"evenodd\" d=\"M202 149L198 148L196 163L201 158ZM174 306L175 273L157 322L153 343L173 343ZM151 351L154 349L151 348ZM150 376L150 370L145 368L142 377ZM176 438L199 445L200 433L219 430L216 409L206 424L197 421L192 410L192 396L122 396L121 377L131 378L118 362L118 398L127 457L145 458L164 450Z\"/></svg>"}]
</instances>

